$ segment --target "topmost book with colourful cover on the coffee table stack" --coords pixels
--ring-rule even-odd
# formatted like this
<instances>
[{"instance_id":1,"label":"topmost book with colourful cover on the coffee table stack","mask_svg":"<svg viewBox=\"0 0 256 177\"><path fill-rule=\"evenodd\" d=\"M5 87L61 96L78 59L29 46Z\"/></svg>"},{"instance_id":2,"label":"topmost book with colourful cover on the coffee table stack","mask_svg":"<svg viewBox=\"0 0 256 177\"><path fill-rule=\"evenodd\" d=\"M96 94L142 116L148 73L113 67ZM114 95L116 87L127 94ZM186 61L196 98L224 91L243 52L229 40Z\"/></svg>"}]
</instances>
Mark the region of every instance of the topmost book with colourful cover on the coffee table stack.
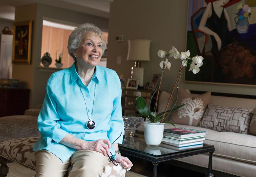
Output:
<instances>
[{"instance_id":1,"label":"topmost book with colourful cover on the coffee table stack","mask_svg":"<svg viewBox=\"0 0 256 177\"><path fill-rule=\"evenodd\" d=\"M195 136L205 136L206 131L188 129L184 127L164 129L165 136L174 136L174 137L195 137Z\"/></svg>"}]
</instances>

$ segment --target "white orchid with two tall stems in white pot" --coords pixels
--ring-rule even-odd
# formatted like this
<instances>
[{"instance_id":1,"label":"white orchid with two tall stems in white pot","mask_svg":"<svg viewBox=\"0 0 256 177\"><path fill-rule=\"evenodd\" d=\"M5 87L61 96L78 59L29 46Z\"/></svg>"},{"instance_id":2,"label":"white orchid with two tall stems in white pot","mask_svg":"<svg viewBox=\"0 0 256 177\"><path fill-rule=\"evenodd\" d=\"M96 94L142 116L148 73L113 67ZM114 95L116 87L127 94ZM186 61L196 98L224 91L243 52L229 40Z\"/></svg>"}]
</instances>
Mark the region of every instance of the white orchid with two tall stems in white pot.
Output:
<instances>
[{"instance_id":1,"label":"white orchid with two tall stems in white pot","mask_svg":"<svg viewBox=\"0 0 256 177\"><path fill-rule=\"evenodd\" d=\"M180 53L175 47L172 47L172 49L169 51L169 53L167 53L166 51L163 51L163 50L159 50L158 56L160 58L164 58L164 60L160 62L161 72L160 72L159 82L158 82L158 85L157 85L154 93L151 96L149 107L146 105L146 101L143 97L138 97L137 101L136 101L136 107L137 107L139 113L142 114L143 116L145 116L146 118L148 118L148 120L149 120L149 121L144 122L144 138L145 138L146 144L152 145L152 146L158 146L161 143L165 123L175 126L172 122L164 120L166 118L166 116L168 116L171 112L174 112L175 110L181 108L184 105L184 104L182 104L182 105L178 105L177 107L175 107L177 100L178 100L178 96L177 96L176 101L175 101L174 105L172 106L172 108L170 110L167 110L167 108L170 104L172 95L174 93L174 90L176 88L178 89L178 87L179 87L182 67L189 67L189 71L192 71L194 74L197 74L200 71L199 68L203 65L203 57L202 56L195 56L195 57L191 58L189 50L186 52ZM171 68L170 60L172 57L174 57L175 59L181 59L181 66L178 71L178 75L177 75L175 84L172 88L168 103L166 104L165 111L162 113L156 114L156 109L158 106L158 99L159 99L159 92L160 92L160 88L161 88L161 84L162 84L162 77L164 74L164 69L167 68L170 70L170 68ZM152 98L156 92L157 92L157 95L156 95L154 110L151 111L149 108L151 105ZM178 93L178 91L177 91L177 93Z\"/></svg>"}]
</instances>

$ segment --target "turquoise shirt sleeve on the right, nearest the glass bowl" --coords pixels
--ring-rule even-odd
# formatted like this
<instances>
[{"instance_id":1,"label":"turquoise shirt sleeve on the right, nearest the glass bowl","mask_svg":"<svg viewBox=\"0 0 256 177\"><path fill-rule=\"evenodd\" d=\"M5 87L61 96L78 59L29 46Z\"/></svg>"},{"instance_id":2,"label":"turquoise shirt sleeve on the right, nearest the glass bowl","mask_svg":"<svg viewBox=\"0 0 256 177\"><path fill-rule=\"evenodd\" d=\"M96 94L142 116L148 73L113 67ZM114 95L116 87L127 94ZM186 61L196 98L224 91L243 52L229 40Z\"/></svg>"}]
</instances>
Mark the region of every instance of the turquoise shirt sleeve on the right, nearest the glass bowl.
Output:
<instances>
[{"instance_id":1,"label":"turquoise shirt sleeve on the right, nearest the glass bowl","mask_svg":"<svg viewBox=\"0 0 256 177\"><path fill-rule=\"evenodd\" d=\"M108 133L108 138L111 143L113 143L122 133L122 135L115 141L114 143L122 144L123 143L123 132L124 132L124 124L122 118L122 105L121 105L121 97L122 97L122 89L121 83L118 75L116 74L116 84L117 84L117 95L113 101L113 110L111 113L111 118L109 121L110 130Z\"/></svg>"}]
</instances>

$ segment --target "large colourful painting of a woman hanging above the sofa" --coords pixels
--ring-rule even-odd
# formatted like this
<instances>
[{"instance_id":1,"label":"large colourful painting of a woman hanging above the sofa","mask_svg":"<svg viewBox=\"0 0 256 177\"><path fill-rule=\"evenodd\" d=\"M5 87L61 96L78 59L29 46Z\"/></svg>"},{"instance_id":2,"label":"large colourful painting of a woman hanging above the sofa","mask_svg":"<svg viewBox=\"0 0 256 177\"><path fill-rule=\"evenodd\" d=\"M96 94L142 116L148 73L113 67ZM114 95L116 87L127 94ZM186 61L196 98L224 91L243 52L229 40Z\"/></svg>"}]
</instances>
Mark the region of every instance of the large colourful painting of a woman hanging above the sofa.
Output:
<instances>
[{"instance_id":1,"label":"large colourful painting of a woman hanging above the sofa","mask_svg":"<svg viewBox=\"0 0 256 177\"><path fill-rule=\"evenodd\" d=\"M204 60L185 81L255 86L255 1L189 0L187 48Z\"/></svg>"}]
</instances>

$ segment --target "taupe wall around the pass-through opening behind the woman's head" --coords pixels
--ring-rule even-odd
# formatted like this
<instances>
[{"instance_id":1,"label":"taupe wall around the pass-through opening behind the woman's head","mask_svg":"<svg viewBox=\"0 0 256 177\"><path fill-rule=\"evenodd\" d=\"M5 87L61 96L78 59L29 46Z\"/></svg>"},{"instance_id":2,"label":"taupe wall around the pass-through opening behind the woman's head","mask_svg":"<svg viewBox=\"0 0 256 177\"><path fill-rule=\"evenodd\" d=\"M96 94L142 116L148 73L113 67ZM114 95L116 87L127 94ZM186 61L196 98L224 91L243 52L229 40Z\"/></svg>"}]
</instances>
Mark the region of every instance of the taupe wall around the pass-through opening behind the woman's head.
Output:
<instances>
[{"instance_id":1,"label":"taupe wall around the pass-through opening behind the woman's head","mask_svg":"<svg viewBox=\"0 0 256 177\"><path fill-rule=\"evenodd\" d=\"M21 82L27 83L27 87L31 89L30 108L34 108L37 104L43 102L46 83L50 74L52 74L52 72L39 71L37 68L40 65L41 58L43 19L52 19L55 22L73 25L91 22L99 28L108 29L108 19L85 13L43 4L31 4L15 8L15 21L33 20L32 64L14 64L12 73L14 79L20 79Z\"/></svg>"}]
</instances>

